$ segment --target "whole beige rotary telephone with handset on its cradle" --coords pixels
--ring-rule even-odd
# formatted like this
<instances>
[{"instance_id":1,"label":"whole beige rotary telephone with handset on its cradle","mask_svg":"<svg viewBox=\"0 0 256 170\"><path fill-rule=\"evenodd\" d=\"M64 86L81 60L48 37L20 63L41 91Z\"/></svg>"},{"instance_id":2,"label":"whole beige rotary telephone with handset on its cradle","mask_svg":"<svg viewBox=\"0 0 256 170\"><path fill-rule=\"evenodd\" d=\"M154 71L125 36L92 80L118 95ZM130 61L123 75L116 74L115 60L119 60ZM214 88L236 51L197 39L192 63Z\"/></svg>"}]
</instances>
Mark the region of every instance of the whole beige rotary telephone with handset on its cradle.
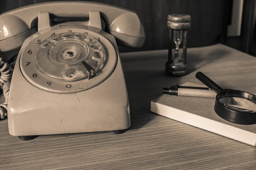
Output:
<instances>
[{"instance_id":1,"label":"whole beige rotary telephone with handset on its cradle","mask_svg":"<svg viewBox=\"0 0 256 170\"><path fill-rule=\"evenodd\" d=\"M1 14L0 51L20 48L9 91L9 133L29 140L128 129L117 44L141 47L144 41L136 13L101 3L39 3Z\"/></svg>"}]
</instances>

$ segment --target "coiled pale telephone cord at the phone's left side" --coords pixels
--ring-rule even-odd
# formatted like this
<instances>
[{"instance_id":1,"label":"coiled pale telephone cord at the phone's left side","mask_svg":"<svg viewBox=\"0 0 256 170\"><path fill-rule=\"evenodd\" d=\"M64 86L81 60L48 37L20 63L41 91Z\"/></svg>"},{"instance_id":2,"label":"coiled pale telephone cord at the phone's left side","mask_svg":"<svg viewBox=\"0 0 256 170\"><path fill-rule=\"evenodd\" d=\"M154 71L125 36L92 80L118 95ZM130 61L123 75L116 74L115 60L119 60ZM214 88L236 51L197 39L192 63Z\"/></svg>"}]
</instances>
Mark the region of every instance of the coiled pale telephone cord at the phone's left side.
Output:
<instances>
[{"instance_id":1,"label":"coiled pale telephone cord at the phone's left side","mask_svg":"<svg viewBox=\"0 0 256 170\"><path fill-rule=\"evenodd\" d=\"M3 89L5 102L0 105L0 119L7 117L7 104L11 85L13 68L0 57L0 90Z\"/></svg>"}]
</instances>

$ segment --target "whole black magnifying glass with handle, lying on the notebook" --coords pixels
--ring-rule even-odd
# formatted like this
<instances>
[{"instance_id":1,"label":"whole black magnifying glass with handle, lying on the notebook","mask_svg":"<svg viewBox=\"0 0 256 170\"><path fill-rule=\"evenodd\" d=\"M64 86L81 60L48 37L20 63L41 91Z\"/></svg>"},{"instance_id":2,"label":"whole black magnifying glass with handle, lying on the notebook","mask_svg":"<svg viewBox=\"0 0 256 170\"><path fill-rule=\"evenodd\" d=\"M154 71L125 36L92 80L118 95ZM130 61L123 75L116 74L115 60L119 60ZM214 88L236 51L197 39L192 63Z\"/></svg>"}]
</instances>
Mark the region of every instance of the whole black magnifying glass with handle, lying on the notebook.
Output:
<instances>
[{"instance_id":1,"label":"whole black magnifying glass with handle, lying on the notebook","mask_svg":"<svg viewBox=\"0 0 256 170\"><path fill-rule=\"evenodd\" d=\"M256 124L256 96L254 94L223 89L200 71L195 74L195 77L217 93L214 111L218 116L240 125Z\"/></svg>"}]
</instances>

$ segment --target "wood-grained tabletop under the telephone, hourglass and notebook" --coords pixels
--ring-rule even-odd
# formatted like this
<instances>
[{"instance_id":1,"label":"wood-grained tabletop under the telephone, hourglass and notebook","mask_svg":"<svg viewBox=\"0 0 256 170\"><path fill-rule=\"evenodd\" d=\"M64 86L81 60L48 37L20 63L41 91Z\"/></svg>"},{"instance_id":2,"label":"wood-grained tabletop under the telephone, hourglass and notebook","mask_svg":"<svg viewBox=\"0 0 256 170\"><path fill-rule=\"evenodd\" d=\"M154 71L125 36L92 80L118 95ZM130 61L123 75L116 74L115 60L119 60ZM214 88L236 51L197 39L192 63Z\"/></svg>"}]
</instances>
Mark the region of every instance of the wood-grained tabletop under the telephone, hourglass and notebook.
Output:
<instances>
[{"instance_id":1,"label":"wood-grained tabletop under the telephone, hourglass and notebook","mask_svg":"<svg viewBox=\"0 0 256 170\"><path fill-rule=\"evenodd\" d=\"M162 88L199 83L202 71L223 88L256 94L256 58L217 44L188 49L189 74L167 77L167 51L122 54L130 99L131 128L106 132L39 136L21 141L0 121L0 168L38 169L256 169L256 148L150 111ZM3 99L2 99L3 102ZM74 115L75 116L75 115Z\"/></svg>"}]
</instances>

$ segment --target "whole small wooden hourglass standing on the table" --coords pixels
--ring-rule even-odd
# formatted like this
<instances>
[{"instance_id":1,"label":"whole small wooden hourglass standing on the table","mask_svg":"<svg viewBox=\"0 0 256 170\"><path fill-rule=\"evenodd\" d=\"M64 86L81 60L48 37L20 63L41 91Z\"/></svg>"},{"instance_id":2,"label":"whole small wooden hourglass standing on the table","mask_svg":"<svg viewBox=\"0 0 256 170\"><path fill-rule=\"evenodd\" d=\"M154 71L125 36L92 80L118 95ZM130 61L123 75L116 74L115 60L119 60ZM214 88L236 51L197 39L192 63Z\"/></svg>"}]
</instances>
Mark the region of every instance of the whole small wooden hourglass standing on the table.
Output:
<instances>
[{"instance_id":1,"label":"whole small wooden hourglass standing on the table","mask_svg":"<svg viewBox=\"0 0 256 170\"><path fill-rule=\"evenodd\" d=\"M191 17L186 14L169 14L167 20L167 26L169 27L169 52L165 72L169 76L184 76L187 74L187 30L190 27ZM180 47L181 45L182 48Z\"/></svg>"}]
</instances>

